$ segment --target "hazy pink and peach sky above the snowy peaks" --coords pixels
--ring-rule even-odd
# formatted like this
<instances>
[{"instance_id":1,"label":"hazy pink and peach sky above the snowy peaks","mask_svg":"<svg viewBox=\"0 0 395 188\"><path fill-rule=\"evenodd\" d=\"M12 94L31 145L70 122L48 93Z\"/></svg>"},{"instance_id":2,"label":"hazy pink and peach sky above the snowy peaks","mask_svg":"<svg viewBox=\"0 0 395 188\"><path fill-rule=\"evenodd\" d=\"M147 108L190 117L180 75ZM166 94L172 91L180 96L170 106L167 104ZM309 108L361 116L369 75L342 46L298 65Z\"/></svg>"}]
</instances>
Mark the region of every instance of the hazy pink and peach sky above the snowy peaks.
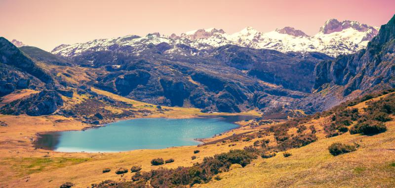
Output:
<instances>
[{"instance_id":1,"label":"hazy pink and peach sky above the snowy peaks","mask_svg":"<svg viewBox=\"0 0 395 188\"><path fill-rule=\"evenodd\" d=\"M93 39L211 27L234 33L291 26L314 35L330 18L380 26L394 13L395 0L0 0L0 36L50 51Z\"/></svg>"}]
</instances>

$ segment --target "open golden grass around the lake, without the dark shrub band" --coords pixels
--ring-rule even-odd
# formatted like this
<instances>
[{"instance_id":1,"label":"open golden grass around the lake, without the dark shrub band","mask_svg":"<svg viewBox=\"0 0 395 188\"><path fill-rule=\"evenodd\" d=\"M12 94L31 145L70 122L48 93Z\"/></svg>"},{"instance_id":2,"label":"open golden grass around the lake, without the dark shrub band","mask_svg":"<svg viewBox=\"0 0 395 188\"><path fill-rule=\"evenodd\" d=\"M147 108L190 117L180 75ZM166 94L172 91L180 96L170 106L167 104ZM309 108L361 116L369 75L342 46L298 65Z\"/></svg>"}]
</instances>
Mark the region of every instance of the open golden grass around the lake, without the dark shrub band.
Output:
<instances>
[{"instance_id":1,"label":"open golden grass around the lake, without the dark shrub band","mask_svg":"<svg viewBox=\"0 0 395 188\"><path fill-rule=\"evenodd\" d=\"M115 94L92 89L117 100L133 103L137 108L152 108L150 104L127 99ZM13 96L16 97L16 96ZM19 98L19 97L16 97ZM375 98L377 99L377 98ZM375 100L373 99L373 100ZM355 107L362 108L364 104ZM164 114L148 117L185 118L203 115L196 108L164 107L172 110ZM246 112L255 114L256 112ZM232 114L228 114L232 115ZM56 120L63 121L56 121ZM35 149L32 139L39 132L81 130L89 125L63 116L0 115L0 121L7 127L0 127L0 187L1 188L54 188L65 182L72 182L76 188L90 187L92 183L111 179L130 180L132 173L117 175L119 167L130 170L131 166L141 165L142 171L158 168L151 166L153 158L169 159L175 162L161 165L165 168L192 166L206 156L241 149L255 140L237 141L236 145L219 142L203 146L182 146L165 149L142 149L114 153L63 153ZM395 185L395 121L387 122L388 131L375 136L350 135L349 133L325 138L322 124L326 118L312 120L307 126L316 127L318 141L301 148L290 149L290 157L277 153L269 159L256 159L244 168L232 168L221 173L222 180L212 180L208 184L194 187L394 187ZM203 141L216 141L232 134L258 131L269 125L249 127L249 122L239 122L240 128L224 133L222 136L207 138ZM290 133L296 132L294 129ZM267 136L270 144L275 144L273 135ZM264 138L265 139L265 138ZM361 146L355 152L332 156L327 147L336 141L357 142ZM194 154L194 150L200 150ZM197 159L192 160L191 156ZM104 168L111 172L102 173Z\"/></svg>"}]
</instances>

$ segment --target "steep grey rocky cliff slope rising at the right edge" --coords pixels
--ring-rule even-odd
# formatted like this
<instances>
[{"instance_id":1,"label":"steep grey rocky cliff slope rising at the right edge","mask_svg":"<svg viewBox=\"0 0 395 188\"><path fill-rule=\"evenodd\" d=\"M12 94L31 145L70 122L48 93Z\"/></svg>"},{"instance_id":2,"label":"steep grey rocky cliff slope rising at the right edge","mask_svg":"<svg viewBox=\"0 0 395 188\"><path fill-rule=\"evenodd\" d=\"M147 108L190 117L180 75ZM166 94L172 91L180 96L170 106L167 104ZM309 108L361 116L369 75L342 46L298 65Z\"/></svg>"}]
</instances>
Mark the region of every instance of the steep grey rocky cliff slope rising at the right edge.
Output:
<instances>
[{"instance_id":1,"label":"steep grey rocky cliff slope rising at the right edge","mask_svg":"<svg viewBox=\"0 0 395 188\"><path fill-rule=\"evenodd\" d=\"M315 91L300 107L328 109L331 105L355 97L354 93L394 88L394 39L395 16L381 26L379 34L368 43L366 49L318 63L315 69Z\"/></svg>"}]
</instances>

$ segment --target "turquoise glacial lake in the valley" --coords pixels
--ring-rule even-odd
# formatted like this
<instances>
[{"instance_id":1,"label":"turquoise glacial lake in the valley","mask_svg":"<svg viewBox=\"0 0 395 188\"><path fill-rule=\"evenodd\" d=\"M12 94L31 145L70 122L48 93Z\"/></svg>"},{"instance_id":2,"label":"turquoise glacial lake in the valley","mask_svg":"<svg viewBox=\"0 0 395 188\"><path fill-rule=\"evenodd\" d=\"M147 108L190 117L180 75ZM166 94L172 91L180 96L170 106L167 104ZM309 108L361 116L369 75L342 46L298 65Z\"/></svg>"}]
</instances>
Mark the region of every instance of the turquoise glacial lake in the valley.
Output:
<instances>
[{"instance_id":1,"label":"turquoise glacial lake in the valley","mask_svg":"<svg viewBox=\"0 0 395 188\"><path fill-rule=\"evenodd\" d=\"M123 120L85 131L41 134L35 146L62 152L118 152L197 145L201 142L195 139L213 137L237 128L238 125L234 122L255 118L255 116L214 117Z\"/></svg>"}]
</instances>

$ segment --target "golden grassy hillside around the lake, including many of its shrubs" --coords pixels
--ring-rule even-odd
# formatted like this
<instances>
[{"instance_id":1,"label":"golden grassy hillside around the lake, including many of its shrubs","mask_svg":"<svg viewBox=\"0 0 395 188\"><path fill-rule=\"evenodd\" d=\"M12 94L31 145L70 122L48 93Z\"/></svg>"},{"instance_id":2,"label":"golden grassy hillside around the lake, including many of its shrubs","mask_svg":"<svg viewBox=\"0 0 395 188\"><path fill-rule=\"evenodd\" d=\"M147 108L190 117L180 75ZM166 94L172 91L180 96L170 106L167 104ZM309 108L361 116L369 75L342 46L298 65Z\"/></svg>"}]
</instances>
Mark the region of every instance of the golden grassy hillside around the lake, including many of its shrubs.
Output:
<instances>
[{"instance_id":1,"label":"golden grassy hillside around the lake, including many of its shrubs","mask_svg":"<svg viewBox=\"0 0 395 188\"><path fill-rule=\"evenodd\" d=\"M158 111L158 107L154 105L95 88L91 88L91 91L130 103L135 109L151 110L153 113L148 117L201 115L201 112L195 108L163 107L168 111ZM29 93L32 91L21 92L20 96L13 94L8 98L20 98ZM66 97L65 107L88 98L88 95L84 94ZM222 156L223 160L219 161L222 163L224 160L231 159L233 154L229 154L230 150L239 149L246 153L234 155L243 157L245 159L243 163L230 160L231 162L224 163L225 166L221 167L219 174L213 173L207 180L193 180L193 187L391 187L395 183L395 121L385 122L387 131L372 136L351 135L349 131L340 132L343 130L341 126L333 127L330 123L339 125L339 122L344 122L344 118L346 120L352 118L351 115L356 113L352 110L354 108L357 108L360 119L369 114L365 113L366 111L372 112L371 106L383 106L384 103L392 105L394 98L394 93L365 96L330 111L307 118L297 118L286 123L266 119L240 122L240 128L214 138L204 139L206 143L199 146L118 153L62 153L35 149L31 141L36 138L38 132L80 130L89 125L75 118L59 115L39 117L1 115L0 121L6 126L0 126L0 185L52 188L59 187L65 182L72 182L75 187L91 187L91 184L111 180L107 183L112 182L119 186L136 186L136 184L158 186L160 176L152 176L153 172L171 175L173 173L171 169L177 169L179 166L183 166L179 169L185 169L186 172L191 172L191 169L206 168L199 167L200 164L207 164L204 162L206 157L215 159ZM122 110L122 107L112 105L106 105L104 108L114 113ZM373 112L371 114L376 114L377 110ZM179 116L176 116L177 114ZM344 114L351 115L346 118ZM393 115L389 117L394 118ZM351 121L347 130L352 130L358 124L358 120ZM356 143L359 147L356 151L333 156L329 153L328 146L334 142ZM199 152L195 153L195 150ZM261 155L264 156L267 152L276 153L276 156L262 158ZM291 155L284 157L284 152ZM220 153L223 154L218 155ZM250 158L253 155L255 157ZM196 156L196 159L192 159L192 156ZM154 158L164 160L172 158L174 162L153 166L151 160ZM241 167L239 164L245 166ZM136 173L130 173L132 166L141 166L142 175L149 181L138 180ZM128 173L116 174L120 167L128 169ZM168 170L163 170L161 167ZM105 168L111 171L103 173ZM133 183L132 177L135 179L137 177L138 181Z\"/></svg>"}]
</instances>

